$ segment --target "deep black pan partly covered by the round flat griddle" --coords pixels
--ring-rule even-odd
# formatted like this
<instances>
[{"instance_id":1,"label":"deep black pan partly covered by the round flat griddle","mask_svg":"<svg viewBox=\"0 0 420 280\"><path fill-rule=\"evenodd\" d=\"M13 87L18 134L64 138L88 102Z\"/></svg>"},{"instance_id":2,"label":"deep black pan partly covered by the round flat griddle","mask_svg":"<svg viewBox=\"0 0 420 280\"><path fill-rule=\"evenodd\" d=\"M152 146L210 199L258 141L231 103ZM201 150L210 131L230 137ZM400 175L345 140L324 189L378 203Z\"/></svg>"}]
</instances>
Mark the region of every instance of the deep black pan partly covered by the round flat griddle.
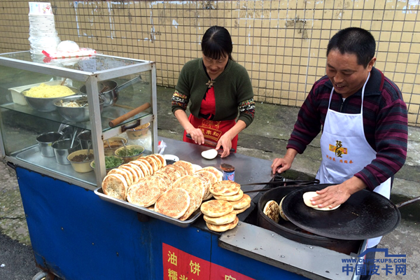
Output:
<instances>
[{"instance_id":1,"label":"deep black pan partly covered by the round flat griddle","mask_svg":"<svg viewBox=\"0 0 420 280\"><path fill-rule=\"evenodd\" d=\"M269 200L274 200L280 204L283 197L299 188L302 188L302 186L278 187L265 192L260 197L260 200L258 200L257 225L302 244L321 246L345 254L350 254L352 252L357 253L362 243L361 240L341 240L314 235L311 232L298 228L289 221L284 221L283 219L280 219L279 223L276 223L264 214L263 210L265 204L269 202Z\"/></svg>"}]
</instances>

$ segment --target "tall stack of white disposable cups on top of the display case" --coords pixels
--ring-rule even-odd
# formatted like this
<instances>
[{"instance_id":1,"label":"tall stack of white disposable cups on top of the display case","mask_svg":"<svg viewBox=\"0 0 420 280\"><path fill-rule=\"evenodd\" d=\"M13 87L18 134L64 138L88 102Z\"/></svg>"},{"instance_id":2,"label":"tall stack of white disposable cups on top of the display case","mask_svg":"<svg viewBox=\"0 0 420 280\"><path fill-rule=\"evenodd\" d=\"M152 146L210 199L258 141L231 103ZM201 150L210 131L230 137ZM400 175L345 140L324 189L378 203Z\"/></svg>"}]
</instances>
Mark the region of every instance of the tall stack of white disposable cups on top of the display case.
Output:
<instances>
[{"instance_id":1,"label":"tall stack of white disposable cups on top of the display case","mask_svg":"<svg viewBox=\"0 0 420 280\"><path fill-rule=\"evenodd\" d=\"M55 20L50 3L29 2L29 43L31 53L55 52L60 39L55 30Z\"/></svg>"}]
</instances>

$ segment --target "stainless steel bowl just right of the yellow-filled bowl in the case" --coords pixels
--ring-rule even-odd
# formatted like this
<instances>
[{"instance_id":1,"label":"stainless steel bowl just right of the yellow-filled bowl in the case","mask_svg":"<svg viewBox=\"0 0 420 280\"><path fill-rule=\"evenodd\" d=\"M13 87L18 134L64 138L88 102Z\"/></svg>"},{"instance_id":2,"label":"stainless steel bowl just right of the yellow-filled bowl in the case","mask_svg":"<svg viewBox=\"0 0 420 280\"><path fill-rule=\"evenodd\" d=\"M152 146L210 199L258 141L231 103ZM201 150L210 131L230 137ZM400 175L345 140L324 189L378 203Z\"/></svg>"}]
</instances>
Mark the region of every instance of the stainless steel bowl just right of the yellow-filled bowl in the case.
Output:
<instances>
[{"instance_id":1,"label":"stainless steel bowl just right of the yellow-filled bowl in the case","mask_svg":"<svg viewBox=\"0 0 420 280\"><path fill-rule=\"evenodd\" d=\"M63 102L80 102L81 104L85 104L85 106L66 107L62 106ZM104 102L105 100L102 97L99 97L99 109L101 112L102 109L104 109ZM58 113L66 120L75 123L85 122L89 120L89 106L87 106L87 95L78 94L71 95L69 97L56 98L54 102L52 102L52 104L57 108Z\"/></svg>"}]
</instances>

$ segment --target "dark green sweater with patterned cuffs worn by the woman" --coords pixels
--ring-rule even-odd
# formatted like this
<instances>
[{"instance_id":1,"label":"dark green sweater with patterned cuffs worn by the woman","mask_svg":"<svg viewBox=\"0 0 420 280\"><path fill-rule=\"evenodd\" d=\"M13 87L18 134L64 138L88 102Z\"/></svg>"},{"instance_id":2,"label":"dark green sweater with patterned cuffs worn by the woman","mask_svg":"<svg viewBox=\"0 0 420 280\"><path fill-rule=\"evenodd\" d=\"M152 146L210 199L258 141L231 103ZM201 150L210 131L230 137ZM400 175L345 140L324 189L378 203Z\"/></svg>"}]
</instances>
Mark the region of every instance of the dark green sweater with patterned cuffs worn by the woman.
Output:
<instances>
[{"instance_id":1,"label":"dark green sweater with patterned cuffs worn by the woman","mask_svg":"<svg viewBox=\"0 0 420 280\"><path fill-rule=\"evenodd\" d=\"M199 118L200 107L206 92L209 77L203 66L203 59L193 59L187 62L178 79L175 93L172 97L172 112L187 109L190 102L190 112ZM232 60L229 60L225 70L214 80L214 95L216 113L213 120L243 120L246 126L253 121L255 103L248 72Z\"/></svg>"}]
</instances>

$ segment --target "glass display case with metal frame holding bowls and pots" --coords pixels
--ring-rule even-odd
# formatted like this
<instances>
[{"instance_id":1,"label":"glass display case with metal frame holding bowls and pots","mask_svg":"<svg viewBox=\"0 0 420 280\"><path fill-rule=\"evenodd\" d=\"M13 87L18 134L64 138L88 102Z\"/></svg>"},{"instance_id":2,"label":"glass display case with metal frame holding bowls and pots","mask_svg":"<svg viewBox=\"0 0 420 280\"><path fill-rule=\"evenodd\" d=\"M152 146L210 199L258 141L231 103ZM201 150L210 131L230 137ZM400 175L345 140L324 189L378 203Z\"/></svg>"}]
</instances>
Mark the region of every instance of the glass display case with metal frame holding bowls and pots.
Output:
<instances>
[{"instance_id":1,"label":"glass display case with metal frame holding bowls and pots","mask_svg":"<svg viewBox=\"0 0 420 280\"><path fill-rule=\"evenodd\" d=\"M0 55L0 75L0 149L8 162L93 190L118 146L157 152L154 62L10 52Z\"/></svg>"}]
</instances>

